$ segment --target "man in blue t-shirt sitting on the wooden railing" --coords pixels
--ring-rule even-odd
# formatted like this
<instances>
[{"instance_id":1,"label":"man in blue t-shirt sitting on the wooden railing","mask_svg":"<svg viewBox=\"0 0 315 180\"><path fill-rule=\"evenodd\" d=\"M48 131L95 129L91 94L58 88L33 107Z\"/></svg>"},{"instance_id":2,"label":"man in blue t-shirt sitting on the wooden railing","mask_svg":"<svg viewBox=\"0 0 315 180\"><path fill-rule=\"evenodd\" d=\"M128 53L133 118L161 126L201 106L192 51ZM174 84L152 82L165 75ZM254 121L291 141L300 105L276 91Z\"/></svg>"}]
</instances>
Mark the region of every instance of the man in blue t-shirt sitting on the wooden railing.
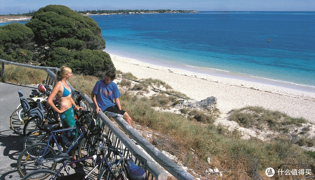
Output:
<instances>
[{"instance_id":1,"label":"man in blue t-shirt sitting on the wooden railing","mask_svg":"<svg viewBox=\"0 0 315 180\"><path fill-rule=\"evenodd\" d=\"M91 98L96 106L96 114L98 111L103 111L106 116L122 117L131 126L131 117L122 110L118 97L120 92L117 85L112 82L116 77L113 71L108 71L105 74L105 79L96 82Z\"/></svg>"}]
</instances>

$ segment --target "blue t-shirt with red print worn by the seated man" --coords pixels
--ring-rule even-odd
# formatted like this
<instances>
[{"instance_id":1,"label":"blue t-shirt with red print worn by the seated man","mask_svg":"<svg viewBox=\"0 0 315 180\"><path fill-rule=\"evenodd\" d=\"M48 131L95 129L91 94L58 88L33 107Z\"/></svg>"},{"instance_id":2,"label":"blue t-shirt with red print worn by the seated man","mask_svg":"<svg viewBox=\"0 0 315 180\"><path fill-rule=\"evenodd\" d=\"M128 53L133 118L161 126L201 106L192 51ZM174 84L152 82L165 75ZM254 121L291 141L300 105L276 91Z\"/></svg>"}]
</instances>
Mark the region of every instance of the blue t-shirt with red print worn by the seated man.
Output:
<instances>
[{"instance_id":1,"label":"blue t-shirt with red print worn by the seated man","mask_svg":"<svg viewBox=\"0 0 315 180\"><path fill-rule=\"evenodd\" d=\"M114 99L120 96L117 85L114 82L107 85L104 79L96 82L92 92L95 94L97 104L103 112L108 107L115 106Z\"/></svg>"}]
</instances>

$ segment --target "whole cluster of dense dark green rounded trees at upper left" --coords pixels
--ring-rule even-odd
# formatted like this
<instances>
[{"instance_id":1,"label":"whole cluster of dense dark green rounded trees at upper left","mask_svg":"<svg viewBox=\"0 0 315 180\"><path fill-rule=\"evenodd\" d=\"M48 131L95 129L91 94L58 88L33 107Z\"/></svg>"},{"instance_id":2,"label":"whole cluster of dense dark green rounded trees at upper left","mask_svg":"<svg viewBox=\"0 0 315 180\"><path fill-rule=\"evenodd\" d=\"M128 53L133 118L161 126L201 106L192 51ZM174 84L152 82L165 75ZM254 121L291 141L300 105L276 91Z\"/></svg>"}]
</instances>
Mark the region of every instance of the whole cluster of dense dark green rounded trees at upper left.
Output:
<instances>
[{"instance_id":1,"label":"whole cluster of dense dark green rounded trees at upper left","mask_svg":"<svg viewBox=\"0 0 315 180\"><path fill-rule=\"evenodd\" d=\"M102 74L115 70L104 48L97 23L63 5L38 9L25 25L0 27L0 57L9 61L67 65L77 73Z\"/></svg>"}]
</instances>

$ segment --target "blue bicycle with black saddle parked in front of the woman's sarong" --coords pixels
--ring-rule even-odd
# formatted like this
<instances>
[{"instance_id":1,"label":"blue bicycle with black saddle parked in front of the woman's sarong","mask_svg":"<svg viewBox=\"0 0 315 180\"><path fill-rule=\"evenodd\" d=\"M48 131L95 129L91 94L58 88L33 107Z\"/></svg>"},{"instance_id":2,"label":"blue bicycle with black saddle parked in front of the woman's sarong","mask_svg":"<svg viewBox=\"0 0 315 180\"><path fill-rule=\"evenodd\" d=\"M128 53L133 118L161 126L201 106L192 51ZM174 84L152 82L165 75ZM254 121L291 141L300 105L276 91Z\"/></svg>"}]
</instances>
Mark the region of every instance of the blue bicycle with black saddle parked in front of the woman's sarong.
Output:
<instances>
[{"instance_id":1,"label":"blue bicycle with black saddle parked in front of the woman's sarong","mask_svg":"<svg viewBox=\"0 0 315 180\"><path fill-rule=\"evenodd\" d=\"M81 112L81 117L80 121L77 121L78 126L73 127L73 128L65 128L65 129L59 129L59 130L54 130L54 128L58 127L59 124L49 124L45 125L44 127L46 130L50 133L48 133L45 136L41 136L38 138L43 138L43 139L28 139L28 142L31 142L31 145L27 146L26 149L24 149L20 156L18 157L17 164L18 164L18 172L19 174L24 177L28 172L33 171L34 169L38 168L47 168L53 170L56 167L56 164L54 161L52 161L52 156L56 155L56 151L54 148L51 146L51 144L55 144L58 152L60 154L67 154L70 152L70 150L73 148L73 146L80 141L79 144L79 151L78 152L85 152L87 151L86 154L80 154L78 153L79 157L86 157L86 155L90 155L91 153L96 153L98 152L96 145L99 143L97 140L99 136L103 138L103 134L92 134L89 135L88 131L86 130L85 125L88 123L87 120L89 118L89 111L82 111ZM89 127L88 127L89 128ZM80 129L81 134L78 136L77 139L73 141L72 144L70 145L65 145L68 150L66 153L62 153L61 147L57 141L57 138L55 136L55 133L60 133L68 130L73 130L73 129ZM81 139L84 137L83 139ZM43 141L46 143L35 143L32 144L32 141ZM87 145L88 144L88 145ZM81 150L82 149L82 150ZM89 164L89 162L85 162L86 164Z\"/></svg>"}]
</instances>

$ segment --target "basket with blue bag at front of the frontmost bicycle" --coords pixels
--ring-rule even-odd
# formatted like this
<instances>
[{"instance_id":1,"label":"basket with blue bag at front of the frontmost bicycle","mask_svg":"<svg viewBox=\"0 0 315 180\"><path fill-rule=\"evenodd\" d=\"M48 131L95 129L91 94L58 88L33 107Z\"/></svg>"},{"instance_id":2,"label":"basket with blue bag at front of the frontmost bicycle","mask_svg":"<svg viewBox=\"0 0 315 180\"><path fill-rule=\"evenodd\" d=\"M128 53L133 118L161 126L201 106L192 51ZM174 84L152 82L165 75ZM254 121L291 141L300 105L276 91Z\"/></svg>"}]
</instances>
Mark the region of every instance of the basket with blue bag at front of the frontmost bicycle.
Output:
<instances>
[{"instance_id":1,"label":"basket with blue bag at front of the frontmost bicycle","mask_svg":"<svg viewBox=\"0 0 315 180\"><path fill-rule=\"evenodd\" d=\"M130 155L129 164L126 164L127 177L129 180L146 179L146 160L140 155ZM134 160L135 159L135 160Z\"/></svg>"}]
</instances>

